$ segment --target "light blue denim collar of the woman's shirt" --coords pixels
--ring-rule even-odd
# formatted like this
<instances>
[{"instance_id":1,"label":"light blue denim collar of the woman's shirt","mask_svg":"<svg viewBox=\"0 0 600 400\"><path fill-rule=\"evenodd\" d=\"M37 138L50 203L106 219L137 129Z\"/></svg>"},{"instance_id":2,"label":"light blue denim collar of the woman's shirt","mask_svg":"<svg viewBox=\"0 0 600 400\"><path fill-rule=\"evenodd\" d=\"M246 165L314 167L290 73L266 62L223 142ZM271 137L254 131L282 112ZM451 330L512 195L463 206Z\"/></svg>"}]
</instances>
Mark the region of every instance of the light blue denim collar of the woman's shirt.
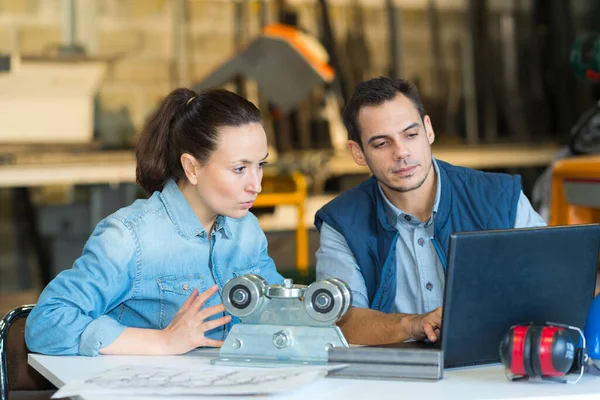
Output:
<instances>
[{"instance_id":1,"label":"light blue denim collar of the woman's shirt","mask_svg":"<svg viewBox=\"0 0 600 400\"><path fill-rule=\"evenodd\" d=\"M191 239L195 236L206 236L206 230L194 214L192 207L183 196L183 193L177 186L174 179L169 179L165 184L160 198L165 205L167 214L177 228L177 232L185 239ZM215 220L213 231L220 232L225 238L231 237L231 231L227 224L227 218L218 215Z\"/></svg>"}]
</instances>

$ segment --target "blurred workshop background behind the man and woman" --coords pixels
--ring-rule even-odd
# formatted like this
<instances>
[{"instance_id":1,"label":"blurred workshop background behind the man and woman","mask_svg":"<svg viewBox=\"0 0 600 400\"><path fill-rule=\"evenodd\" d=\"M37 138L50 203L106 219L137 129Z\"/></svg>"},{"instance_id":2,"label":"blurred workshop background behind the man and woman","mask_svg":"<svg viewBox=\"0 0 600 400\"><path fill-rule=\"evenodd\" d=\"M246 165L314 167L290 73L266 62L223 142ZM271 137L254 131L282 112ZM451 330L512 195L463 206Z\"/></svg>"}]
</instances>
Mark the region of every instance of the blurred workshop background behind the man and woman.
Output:
<instances>
[{"instance_id":1,"label":"blurred workshop background behind the man and woman","mask_svg":"<svg viewBox=\"0 0 600 400\"><path fill-rule=\"evenodd\" d=\"M549 223L600 221L599 31L597 0L0 0L0 314L145 197L132 149L182 86L263 112L252 211L297 282L314 280L315 211L368 176L340 113L380 75L418 85L436 157L521 174Z\"/></svg>"}]
</instances>

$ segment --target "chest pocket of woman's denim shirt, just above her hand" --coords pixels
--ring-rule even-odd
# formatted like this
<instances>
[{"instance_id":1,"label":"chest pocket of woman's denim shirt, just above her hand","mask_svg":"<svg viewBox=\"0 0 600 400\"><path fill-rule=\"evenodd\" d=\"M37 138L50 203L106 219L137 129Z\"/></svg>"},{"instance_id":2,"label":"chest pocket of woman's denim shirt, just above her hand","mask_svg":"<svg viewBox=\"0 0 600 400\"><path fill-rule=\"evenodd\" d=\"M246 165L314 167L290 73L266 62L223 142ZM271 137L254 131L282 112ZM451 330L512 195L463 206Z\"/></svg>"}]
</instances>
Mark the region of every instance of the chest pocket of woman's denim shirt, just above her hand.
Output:
<instances>
[{"instance_id":1,"label":"chest pocket of woman's denim shirt, just above her hand","mask_svg":"<svg viewBox=\"0 0 600 400\"><path fill-rule=\"evenodd\" d=\"M198 293L206 290L202 274L168 275L158 278L156 282L160 291L160 329L171 323L194 289L198 289Z\"/></svg>"}]
</instances>

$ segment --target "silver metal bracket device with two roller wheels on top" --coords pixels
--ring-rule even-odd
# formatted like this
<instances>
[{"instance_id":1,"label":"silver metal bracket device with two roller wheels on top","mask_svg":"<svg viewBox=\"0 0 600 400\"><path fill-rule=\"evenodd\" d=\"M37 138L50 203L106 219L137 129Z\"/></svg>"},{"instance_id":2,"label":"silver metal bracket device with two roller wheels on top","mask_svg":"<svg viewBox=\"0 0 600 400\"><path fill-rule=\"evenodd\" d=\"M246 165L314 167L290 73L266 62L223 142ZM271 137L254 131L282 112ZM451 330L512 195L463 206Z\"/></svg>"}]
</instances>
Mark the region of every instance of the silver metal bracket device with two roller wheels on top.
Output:
<instances>
[{"instance_id":1,"label":"silver metal bracket device with two roller wheels on top","mask_svg":"<svg viewBox=\"0 0 600 400\"><path fill-rule=\"evenodd\" d=\"M335 278L309 286L285 279L269 285L248 274L223 288L223 304L241 323L232 327L214 364L326 364L327 350L348 347L334 326L350 308L352 294Z\"/></svg>"}]
</instances>

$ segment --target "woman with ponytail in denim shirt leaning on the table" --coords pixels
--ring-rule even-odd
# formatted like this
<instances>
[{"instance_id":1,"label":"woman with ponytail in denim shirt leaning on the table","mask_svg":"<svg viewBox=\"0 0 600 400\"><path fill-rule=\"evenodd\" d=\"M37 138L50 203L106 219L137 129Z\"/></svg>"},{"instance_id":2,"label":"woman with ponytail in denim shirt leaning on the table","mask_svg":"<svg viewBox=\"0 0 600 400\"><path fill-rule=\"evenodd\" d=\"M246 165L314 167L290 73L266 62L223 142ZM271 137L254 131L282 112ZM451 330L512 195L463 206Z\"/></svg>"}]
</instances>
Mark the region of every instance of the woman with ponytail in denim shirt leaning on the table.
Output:
<instances>
[{"instance_id":1,"label":"woman with ponytail in denim shirt leaning on the table","mask_svg":"<svg viewBox=\"0 0 600 400\"><path fill-rule=\"evenodd\" d=\"M182 354L222 345L231 317L217 293L239 275L280 283L249 213L267 140L258 109L226 90L177 89L136 149L149 194L101 221L73 268L27 318L31 351Z\"/></svg>"}]
</instances>

